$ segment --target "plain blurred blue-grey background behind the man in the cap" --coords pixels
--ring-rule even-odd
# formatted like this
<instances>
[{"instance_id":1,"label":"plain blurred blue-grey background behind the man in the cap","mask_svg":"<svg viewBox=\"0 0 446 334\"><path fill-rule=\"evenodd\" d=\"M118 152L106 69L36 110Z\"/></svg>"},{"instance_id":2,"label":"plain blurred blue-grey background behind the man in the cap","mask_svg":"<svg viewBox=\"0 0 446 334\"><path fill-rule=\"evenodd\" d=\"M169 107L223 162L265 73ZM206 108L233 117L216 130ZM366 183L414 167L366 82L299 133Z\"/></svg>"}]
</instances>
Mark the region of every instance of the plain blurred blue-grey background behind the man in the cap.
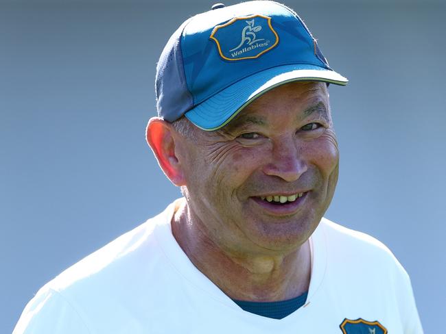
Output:
<instances>
[{"instance_id":1,"label":"plain blurred blue-grey background behind the man in the cap","mask_svg":"<svg viewBox=\"0 0 446 334\"><path fill-rule=\"evenodd\" d=\"M390 247L440 333L445 1L285 3L350 79L330 88L341 163L326 216ZM212 4L0 0L0 333L39 287L180 196L144 131L165 42Z\"/></svg>"}]
</instances>

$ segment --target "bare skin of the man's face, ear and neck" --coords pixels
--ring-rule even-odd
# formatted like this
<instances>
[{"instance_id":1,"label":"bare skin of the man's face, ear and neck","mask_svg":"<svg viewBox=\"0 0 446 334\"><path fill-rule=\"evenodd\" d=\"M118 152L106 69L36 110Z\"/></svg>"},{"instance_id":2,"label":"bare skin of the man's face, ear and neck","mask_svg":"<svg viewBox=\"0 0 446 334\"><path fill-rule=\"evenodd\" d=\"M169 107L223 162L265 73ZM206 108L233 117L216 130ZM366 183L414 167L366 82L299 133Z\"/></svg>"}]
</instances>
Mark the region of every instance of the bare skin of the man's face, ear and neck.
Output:
<instances>
[{"instance_id":1,"label":"bare skin of the man's face, ear and neck","mask_svg":"<svg viewBox=\"0 0 446 334\"><path fill-rule=\"evenodd\" d=\"M193 264L231 298L274 301L308 290L309 237L338 180L338 144L324 83L279 86L218 131L180 136L152 118L150 144L185 201L172 233ZM305 195L281 211L261 196Z\"/></svg>"}]
</instances>

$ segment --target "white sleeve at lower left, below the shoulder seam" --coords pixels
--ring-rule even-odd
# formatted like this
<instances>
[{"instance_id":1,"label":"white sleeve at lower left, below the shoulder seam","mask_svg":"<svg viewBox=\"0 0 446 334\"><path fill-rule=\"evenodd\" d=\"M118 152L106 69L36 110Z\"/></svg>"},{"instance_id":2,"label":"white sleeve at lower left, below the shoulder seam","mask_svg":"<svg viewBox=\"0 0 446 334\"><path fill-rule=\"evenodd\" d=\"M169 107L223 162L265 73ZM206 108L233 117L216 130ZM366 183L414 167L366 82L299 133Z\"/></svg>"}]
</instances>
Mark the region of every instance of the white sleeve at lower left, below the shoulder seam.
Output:
<instances>
[{"instance_id":1,"label":"white sleeve at lower left, below the shoulder seam","mask_svg":"<svg viewBox=\"0 0 446 334\"><path fill-rule=\"evenodd\" d=\"M79 314L60 295L40 290L23 310L12 334L91 334Z\"/></svg>"}]
</instances>

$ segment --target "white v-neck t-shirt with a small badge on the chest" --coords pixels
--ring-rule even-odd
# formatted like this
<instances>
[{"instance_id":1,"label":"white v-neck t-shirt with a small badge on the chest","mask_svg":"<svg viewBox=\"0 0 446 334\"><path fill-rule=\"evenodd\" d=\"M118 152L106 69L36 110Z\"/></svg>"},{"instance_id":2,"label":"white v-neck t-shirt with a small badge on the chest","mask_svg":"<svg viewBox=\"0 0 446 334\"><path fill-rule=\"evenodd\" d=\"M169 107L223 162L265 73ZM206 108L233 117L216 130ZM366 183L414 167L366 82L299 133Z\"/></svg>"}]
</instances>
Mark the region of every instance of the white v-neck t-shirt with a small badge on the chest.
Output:
<instances>
[{"instance_id":1,"label":"white v-neck t-shirt with a small badge on the chest","mask_svg":"<svg viewBox=\"0 0 446 334\"><path fill-rule=\"evenodd\" d=\"M242 310L178 246L176 205L47 283L13 334L423 333L408 274L388 248L325 218L310 238L305 305L281 320Z\"/></svg>"}]
</instances>

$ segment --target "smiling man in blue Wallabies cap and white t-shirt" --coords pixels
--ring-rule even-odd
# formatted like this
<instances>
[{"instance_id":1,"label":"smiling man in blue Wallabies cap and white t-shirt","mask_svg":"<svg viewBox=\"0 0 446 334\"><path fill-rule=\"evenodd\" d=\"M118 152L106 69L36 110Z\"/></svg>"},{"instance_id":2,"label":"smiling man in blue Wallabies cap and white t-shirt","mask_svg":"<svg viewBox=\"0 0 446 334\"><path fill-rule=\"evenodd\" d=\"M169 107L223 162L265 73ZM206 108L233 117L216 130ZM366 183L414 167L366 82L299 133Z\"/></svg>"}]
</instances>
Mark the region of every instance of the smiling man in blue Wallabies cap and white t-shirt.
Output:
<instances>
[{"instance_id":1,"label":"smiling man in blue Wallabies cap and white t-shirt","mask_svg":"<svg viewBox=\"0 0 446 334\"><path fill-rule=\"evenodd\" d=\"M147 140L184 197L43 287L14 333L422 333L388 249L323 218L338 181L328 84L285 5L189 18Z\"/></svg>"}]
</instances>

